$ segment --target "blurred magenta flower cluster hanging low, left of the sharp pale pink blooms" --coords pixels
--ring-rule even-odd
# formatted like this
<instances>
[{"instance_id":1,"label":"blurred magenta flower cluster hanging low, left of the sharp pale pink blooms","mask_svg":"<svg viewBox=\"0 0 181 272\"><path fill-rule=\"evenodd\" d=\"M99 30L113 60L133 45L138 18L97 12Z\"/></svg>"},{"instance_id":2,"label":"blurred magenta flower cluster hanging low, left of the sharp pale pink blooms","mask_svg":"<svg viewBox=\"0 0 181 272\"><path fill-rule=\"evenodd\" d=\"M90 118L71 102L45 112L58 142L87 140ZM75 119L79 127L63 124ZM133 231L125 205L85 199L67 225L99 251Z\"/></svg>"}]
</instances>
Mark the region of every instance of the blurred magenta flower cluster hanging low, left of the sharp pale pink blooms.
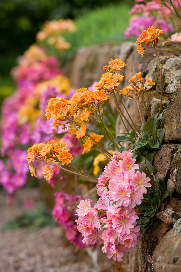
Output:
<instances>
[{"instance_id":1,"label":"blurred magenta flower cluster hanging low, left of the sharp pale pink blooms","mask_svg":"<svg viewBox=\"0 0 181 272\"><path fill-rule=\"evenodd\" d=\"M82 243L82 236L77 230L75 220L76 203L82 196L74 196L64 193L63 191L55 193L55 205L52 215L56 222L65 229L66 238L75 245L75 247L85 248L87 245Z\"/></svg>"}]
</instances>

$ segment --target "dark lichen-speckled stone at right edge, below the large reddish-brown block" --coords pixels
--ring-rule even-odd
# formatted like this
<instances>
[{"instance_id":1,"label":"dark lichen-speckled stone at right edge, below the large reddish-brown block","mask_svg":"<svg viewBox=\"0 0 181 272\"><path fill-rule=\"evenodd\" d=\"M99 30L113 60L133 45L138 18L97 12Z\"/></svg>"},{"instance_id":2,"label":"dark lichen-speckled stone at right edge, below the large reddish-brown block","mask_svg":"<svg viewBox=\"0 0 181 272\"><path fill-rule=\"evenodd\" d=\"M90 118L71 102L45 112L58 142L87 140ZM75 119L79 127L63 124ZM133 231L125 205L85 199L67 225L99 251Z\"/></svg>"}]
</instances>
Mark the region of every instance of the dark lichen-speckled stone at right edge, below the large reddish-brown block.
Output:
<instances>
[{"instance_id":1,"label":"dark lichen-speckled stone at right edge, below the large reddish-brown block","mask_svg":"<svg viewBox=\"0 0 181 272\"><path fill-rule=\"evenodd\" d=\"M181 145L179 150L173 156L173 160L170 165L170 179L175 183L175 189L180 194L181 193Z\"/></svg>"}]
</instances>

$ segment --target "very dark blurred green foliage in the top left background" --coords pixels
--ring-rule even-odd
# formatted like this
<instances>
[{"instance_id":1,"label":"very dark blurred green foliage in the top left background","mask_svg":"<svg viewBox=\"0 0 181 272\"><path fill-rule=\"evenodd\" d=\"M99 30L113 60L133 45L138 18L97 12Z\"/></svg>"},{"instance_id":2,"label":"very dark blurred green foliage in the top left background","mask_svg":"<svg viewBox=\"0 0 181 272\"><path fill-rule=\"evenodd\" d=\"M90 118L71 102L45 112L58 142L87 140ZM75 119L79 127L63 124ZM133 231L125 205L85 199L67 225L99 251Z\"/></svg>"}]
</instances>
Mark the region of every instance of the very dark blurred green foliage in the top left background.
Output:
<instances>
[{"instance_id":1,"label":"very dark blurred green foliage in the top left background","mask_svg":"<svg viewBox=\"0 0 181 272\"><path fill-rule=\"evenodd\" d=\"M121 0L112 0L118 3ZM44 21L74 19L109 0L1 0L0 1L0 75L7 76L17 56L35 41Z\"/></svg>"}]
</instances>

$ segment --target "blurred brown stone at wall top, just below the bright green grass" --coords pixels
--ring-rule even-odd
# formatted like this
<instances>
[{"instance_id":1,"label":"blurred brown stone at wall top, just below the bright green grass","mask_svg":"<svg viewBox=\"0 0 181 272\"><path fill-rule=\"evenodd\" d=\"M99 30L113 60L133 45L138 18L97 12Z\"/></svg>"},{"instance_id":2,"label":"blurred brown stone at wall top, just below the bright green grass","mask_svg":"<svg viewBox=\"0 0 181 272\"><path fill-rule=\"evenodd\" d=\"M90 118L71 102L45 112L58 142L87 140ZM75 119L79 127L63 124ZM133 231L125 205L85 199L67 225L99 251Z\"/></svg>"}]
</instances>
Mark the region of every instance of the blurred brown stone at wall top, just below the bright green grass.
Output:
<instances>
[{"instance_id":1,"label":"blurred brown stone at wall top, just below the bright green grass","mask_svg":"<svg viewBox=\"0 0 181 272\"><path fill-rule=\"evenodd\" d=\"M104 73L103 66L107 65L111 58L119 58L126 62L134 48L133 42L81 47L67 62L65 74L71 79L72 85L76 89L87 88L94 81L100 80L100 76Z\"/></svg>"}]
</instances>

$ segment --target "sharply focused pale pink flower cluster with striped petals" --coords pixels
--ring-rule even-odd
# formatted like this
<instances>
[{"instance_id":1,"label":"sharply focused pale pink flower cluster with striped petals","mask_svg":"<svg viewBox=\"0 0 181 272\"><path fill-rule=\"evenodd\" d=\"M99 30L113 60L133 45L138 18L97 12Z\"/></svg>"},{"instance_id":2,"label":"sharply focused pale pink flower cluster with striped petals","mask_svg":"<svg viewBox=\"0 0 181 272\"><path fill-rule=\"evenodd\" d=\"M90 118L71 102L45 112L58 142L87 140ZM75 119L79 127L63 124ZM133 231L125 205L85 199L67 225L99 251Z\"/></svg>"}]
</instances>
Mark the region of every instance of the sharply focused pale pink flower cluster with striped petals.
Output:
<instances>
[{"instance_id":1,"label":"sharply focused pale pink flower cluster with striped petals","mask_svg":"<svg viewBox=\"0 0 181 272\"><path fill-rule=\"evenodd\" d=\"M100 199L93 208L90 199L81 200L77 209L76 222L84 236L82 242L88 245L103 243L102 251L115 261L122 261L125 252L137 244L140 227L136 226L138 215L134 208L141 204L146 187L151 187L145 173L135 173L139 165L132 156L131 149L116 152L98 178Z\"/></svg>"}]
</instances>

